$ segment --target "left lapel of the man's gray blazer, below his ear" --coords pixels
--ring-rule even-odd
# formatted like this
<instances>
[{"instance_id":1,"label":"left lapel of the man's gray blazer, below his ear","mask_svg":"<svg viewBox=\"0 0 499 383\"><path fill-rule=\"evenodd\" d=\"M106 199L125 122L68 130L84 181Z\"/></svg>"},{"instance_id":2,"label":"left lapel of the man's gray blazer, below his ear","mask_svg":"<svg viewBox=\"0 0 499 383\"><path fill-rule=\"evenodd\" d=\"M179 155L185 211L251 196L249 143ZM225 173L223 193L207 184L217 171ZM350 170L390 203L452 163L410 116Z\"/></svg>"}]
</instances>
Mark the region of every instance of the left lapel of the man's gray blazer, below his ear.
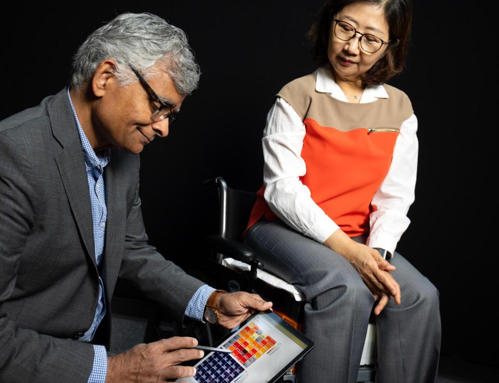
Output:
<instances>
[{"instance_id":1,"label":"left lapel of the man's gray blazer, below his ear","mask_svg":"<svg viewBox=\"0 0 499 383\"><path fill-rule=\"evenodd\" d=\"M85 244L89 257L96 265L89 181L78 135L78 127L66 92L67 90L64 88L57 93L48 106L52 133L62 146L62 151L55 156L55 162L81 239Z\"/></svg>"}]
</instances>

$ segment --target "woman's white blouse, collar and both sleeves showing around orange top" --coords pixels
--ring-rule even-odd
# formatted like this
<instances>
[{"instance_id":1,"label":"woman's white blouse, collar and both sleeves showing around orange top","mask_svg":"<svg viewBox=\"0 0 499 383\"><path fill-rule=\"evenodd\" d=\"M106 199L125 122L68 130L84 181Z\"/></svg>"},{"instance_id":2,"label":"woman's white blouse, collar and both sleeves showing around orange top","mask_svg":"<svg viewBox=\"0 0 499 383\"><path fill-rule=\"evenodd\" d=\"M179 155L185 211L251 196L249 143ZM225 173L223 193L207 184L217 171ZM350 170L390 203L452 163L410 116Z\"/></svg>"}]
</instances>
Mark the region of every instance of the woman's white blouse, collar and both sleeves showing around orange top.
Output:
<instances>
[{"instance_id":1,"label":"woman's white blouse, collar and both sleeves showing around orange top","mask_svg":"<svg viewBox=\"0 0 499 383\"><path fill-rule=\"evenodd\" d=\"M315 90L348 102L340 86L325 73L316 71ZM382 85L366 87L361 103L388 98ZM386 249L392 256L397 242L410 223L409 206L414 201L418 163L418 120L415 114L402 122L395 142L390 169L374 193L367 245ZM306 173L301 158L305 125L293 107L277 97L267 115L264 130L265 200L272 211L289 226L322 243L339 226L310 197L310 190L300 181Z\"/></svg>"}]
</instances>

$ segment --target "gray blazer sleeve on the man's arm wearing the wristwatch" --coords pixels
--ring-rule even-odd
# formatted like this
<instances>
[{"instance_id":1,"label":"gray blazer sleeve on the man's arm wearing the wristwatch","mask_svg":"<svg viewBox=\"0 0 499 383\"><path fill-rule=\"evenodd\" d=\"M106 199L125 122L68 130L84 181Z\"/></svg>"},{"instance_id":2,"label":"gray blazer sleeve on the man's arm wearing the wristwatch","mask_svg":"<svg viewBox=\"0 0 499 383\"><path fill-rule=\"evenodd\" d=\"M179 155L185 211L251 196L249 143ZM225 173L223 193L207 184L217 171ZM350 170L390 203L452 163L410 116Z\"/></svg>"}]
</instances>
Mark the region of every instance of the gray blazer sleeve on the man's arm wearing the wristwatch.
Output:
<instances>
[{"instance_id":1,"label":"gray blazer sleeve on the man's arm wearing the wristwatch","mask_svg":"<svg viewBox=\"0 0 499 383\"><path fill-rule=\"evenodd\" d=\"M166 308L182 323L190 299L204 283L166 260L147 243L138 182L133 201L130 202L132 207L126 219L125 247L119 276Z\"/></svg>"}]
</instances>

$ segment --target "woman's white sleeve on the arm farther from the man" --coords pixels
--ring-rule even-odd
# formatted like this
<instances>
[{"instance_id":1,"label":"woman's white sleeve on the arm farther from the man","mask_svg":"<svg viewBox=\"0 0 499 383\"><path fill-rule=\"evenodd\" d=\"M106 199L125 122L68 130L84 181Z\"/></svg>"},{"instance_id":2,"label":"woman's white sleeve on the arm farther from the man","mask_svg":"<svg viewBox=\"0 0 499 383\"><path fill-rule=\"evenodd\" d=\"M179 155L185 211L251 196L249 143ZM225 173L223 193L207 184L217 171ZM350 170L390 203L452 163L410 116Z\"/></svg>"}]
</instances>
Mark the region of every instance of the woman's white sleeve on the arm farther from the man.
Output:
<instances>
[{"instance_id":1,"label":"woman's white sleeve on the arm farther from the man","mask_svg":"<svg viewBox=\"0 0 499 383\"><path fill-rule=\"evenodd\" d=\"M410 223L407 211L414 202L418 167L417 130L415 114L402 122L390 169L372 200L371 230L366 244L386 249L392 257L397 242Z\"/></svg>"}]
</instances>

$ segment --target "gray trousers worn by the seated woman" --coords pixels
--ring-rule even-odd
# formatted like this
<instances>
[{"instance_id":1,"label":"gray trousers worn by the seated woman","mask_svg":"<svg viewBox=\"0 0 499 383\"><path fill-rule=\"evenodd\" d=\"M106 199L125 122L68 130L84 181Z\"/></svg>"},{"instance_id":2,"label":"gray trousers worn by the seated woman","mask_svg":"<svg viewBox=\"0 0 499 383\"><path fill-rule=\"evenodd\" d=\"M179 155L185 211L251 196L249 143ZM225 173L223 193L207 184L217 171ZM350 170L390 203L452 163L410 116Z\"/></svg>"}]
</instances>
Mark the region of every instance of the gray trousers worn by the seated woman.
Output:
<instances>
[{"instance_id":1,"label":"gray trousers worn by the seated woman","mask_svg":"<svg viewBox=\"0 0 499 383\"><path fill-rule=\"evenodd\" d=\"M354 238L365 243L365 237ZM355 382L374 296L350 263L280 222L257 222L244 241L259 254L265 270L293 284L305 304L304 333L315 343L303 359L299 382ZM400 285L376 317L376 382L437 380L440 354L439 293L395 252L391 272Z\"/></svg>"}]
</instances>

